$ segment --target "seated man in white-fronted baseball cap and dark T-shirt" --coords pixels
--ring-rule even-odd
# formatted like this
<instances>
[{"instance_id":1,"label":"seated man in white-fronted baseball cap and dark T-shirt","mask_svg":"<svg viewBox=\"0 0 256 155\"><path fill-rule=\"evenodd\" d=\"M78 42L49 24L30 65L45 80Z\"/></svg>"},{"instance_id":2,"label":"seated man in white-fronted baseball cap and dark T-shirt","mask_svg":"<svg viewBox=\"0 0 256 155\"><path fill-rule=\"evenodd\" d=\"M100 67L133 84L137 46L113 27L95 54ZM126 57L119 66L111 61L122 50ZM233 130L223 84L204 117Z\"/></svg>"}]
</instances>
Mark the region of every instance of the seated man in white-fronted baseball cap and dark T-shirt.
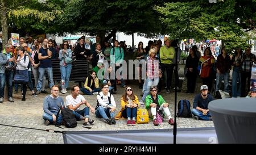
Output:
<instances>
[{"instance_id":1,"label":"seated man in white-fronted baseball cap and dark T-shirt","mask_svg":"<svg viewBox=\"0 0 256 155\"><path fill-rule=\"evenodd\" d=\"M197 94L193 102L192 114L197 120L212 120L210 116L208 104L214 100L213 96L208 94L208 86L202 85L201 94Z\"/></svg>"}]
</instances>

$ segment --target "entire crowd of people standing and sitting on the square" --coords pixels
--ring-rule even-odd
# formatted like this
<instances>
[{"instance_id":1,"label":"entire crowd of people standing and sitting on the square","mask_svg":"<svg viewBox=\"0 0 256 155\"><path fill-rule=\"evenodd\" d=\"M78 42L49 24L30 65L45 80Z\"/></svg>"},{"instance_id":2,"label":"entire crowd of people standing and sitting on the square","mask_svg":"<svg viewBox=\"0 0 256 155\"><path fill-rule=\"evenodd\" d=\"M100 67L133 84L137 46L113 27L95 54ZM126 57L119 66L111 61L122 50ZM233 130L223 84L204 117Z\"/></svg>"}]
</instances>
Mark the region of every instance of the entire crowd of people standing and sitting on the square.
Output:
<instances>
[{"instance_id":1,"label":"entire crowd of people standing and sitting on the square","mask_svg":"<svg viewBox=\"0 0 256 155\"><path fill-rule=\"evenodd\" d=\"M51 59L60 60L61 71L61 91L66 94L69 87L69 77L72 70L73 60L86 60L92 64L92 72L89 77L86 77L84 87L73 86L71 88L71 95L66 97L65 103L67 107L73 110L77 120L84 120L83 127L91 128L94 120L89 118L89 110L96 114L97 118L104 118L108 124L115 124L115 120L119 118L127 118L127 125L135 125L136 112L140 106L138 96L133 93L130 86L126 86L126 81L123 79L122 71L121 86L125 88L125 93L121 97L121 111L115 116L114 94L117 91L117 77L110 78L110 74L120 72L122 63L125 60L129 49L127 49L123 41L115 40L113 47L108 41L101 44L101 38L96 37L96 43L92 44L90 49L85 48L85 38L82 36L79 43L73 48L68 41L64 41L61 49L56 46L54 40L35 39L32 43L32 37L27 40L20 37L19 47L13 47L12 44L7 44L0 53L0 103L3 102L4 88L7 81L8 98L10 102L13 99L13 83L15 93L18 93L18 87L21 85L22 101L26 100L27 86L29 87L32 96L36 97L40 93L47 93L46 87L46 72L48 76L48 84L51 88L51 95L44 100L44 115L46 124L53 122L61 122L61 116L57 118L57 107L64 103L63 99L59 97L59 86L53 82L52 61ZM178 69L176 65L179 64L181 49L177 45L177 40L165 40L162 46L162 41L148 41L146 48L143 43L139 42L138 48L133 52L134 60L145 60L146 62L146 79L142 79L143 65L139 65L138 71L138 86L142 89L142 102L146 104L148 113L153 118L154 125L158 125L156 120L156 111L162 111L169 120L168 123L174 124L171 116L169 104L158 93L165 86L166 93L171 93L172 74L178 77ZM216 48L215 55L216 55ZM176 61L177 53L177 61ZM212 84L216 78L215 91L221 89L221 81L224 80L224 90L232 97L246 97L246 90L249 91L249 97L255 96L254 87L250 89L250 77L253 63L256 62L256 57L251 53L251 48L246 47L245 52L241 48L237 48L234 56L230 57L225 48L217 53L217 61L213 56L213 51L210 47L205 47L203 56L198 51L196 45L189 48L189 56L187 57L185 69L187 72L185 76L188 79L187 93L194 93L197 76L203 80L201 86L201 94L196 95L192 114L201 120L211 120L208 103L214 98L208 93L212 90ZM98 71L104 68L105 60L109 64L107 75L104 79L98 78ZM232 91L229 90L229 73L233 67ZM114 68L113 68L114 67ZM34 81L32 80L32 74ZM164 78L166 74L166 78ZM246 79L248 86L246 86ZM238 82L238 85L237 85ZM34 88L36 89L34 91ZM174 87L174 89L179 89ZM250 90L249 90L250 89ZM80 90L86 95L97 95L97 107L93 108L80 95ZM80 106L85 104L86 108L80 110Z\"/></svg>"}]
</instances>

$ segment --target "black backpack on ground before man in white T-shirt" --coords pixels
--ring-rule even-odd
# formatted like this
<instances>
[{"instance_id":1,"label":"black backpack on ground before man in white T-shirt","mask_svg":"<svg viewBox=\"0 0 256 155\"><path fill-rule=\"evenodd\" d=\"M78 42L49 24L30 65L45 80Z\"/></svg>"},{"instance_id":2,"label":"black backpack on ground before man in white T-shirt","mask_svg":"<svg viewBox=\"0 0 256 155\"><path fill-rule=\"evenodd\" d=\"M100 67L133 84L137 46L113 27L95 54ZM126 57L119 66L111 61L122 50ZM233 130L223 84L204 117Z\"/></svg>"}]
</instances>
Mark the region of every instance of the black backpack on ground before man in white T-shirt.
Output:
<instances>
[{"instance_id":1,"label":"black backpack on ground before man in white T-shirt","mask_svg":"<svg viewBox=\"0 0 256 155\"><path fill-rule=\"evenodd\" d=\"M75 128L77 126L75 114L73 114L72 110L70 110L69 108L63 107L62 105L60 110L57 113L56 122L59 117L60 111L61 111L61 116L63 118L65 127ZM56 126L59 126L59 125L61 124L56 124Z\"/></svg>"}]
</instances>

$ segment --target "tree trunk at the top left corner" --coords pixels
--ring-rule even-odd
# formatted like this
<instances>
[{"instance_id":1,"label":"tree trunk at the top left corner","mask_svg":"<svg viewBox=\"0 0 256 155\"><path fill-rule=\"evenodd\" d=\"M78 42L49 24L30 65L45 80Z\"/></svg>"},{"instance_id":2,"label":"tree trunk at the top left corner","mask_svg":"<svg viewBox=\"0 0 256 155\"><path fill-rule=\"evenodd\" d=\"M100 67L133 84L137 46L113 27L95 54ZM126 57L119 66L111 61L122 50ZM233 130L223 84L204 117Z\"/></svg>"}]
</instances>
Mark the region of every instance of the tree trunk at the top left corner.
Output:
<instances>
[{"instance_id":1,"label":"tree trunk at the top left corner","mask_svg":"<svg viewBox=\"0 0 256 155\"><path fill-rule=\"evenodd\" d=\"M8 24L7 24L7 15L6 15L6 0L1 0L0 12L1 12L1 26L2 26L2 40L3 40L3 48L8 41Z\"/></svg>"}]
</instances>

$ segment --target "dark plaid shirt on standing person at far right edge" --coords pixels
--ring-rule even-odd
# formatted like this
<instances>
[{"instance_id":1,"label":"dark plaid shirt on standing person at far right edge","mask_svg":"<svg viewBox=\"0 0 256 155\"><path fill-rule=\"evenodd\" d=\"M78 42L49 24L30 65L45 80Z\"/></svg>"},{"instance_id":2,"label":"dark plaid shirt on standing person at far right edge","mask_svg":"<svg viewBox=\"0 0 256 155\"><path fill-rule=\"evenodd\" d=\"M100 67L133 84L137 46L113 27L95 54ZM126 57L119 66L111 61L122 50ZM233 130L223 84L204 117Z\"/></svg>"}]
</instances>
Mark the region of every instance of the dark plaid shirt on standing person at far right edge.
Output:
<instances>
[{"instance_id":1,"label":"dark plaid shirt on standing person at far right edge","mask_svg":"<svg viewBox=\"0 0 256 155\"><path fill-rule=\"evenodd\" d=\"M242 53L242 71L243 72L251 72L251 68L253 66L253 59L256 60L256 56L253 53L250 55L246 55L246 53Z\"/></svg>"}]
</instances>

